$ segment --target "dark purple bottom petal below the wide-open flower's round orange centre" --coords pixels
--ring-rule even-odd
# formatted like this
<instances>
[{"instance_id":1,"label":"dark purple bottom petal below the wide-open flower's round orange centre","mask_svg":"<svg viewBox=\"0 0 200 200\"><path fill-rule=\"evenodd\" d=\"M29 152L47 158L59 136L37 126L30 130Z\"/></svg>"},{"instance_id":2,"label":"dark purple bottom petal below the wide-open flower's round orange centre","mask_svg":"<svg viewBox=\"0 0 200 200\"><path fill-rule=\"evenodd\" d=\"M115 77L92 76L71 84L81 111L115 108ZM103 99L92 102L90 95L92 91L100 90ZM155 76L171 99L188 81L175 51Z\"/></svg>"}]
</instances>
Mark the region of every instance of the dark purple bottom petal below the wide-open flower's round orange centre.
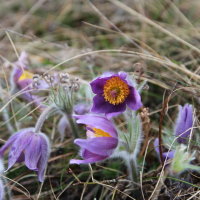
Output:
<instances>
[{"instance_id":1,"label":"dark purple bottom petal below the wide-open flower's round orange centre","mask_svg":"<svg viewBox=\"0 0 200 200\"><path fill-rule=\"evenodd\" d=\"M121 103L118 105L112 105L105 101L103 96L96 95L93 98L92 112L95 113L105 113L105 114L119 114L126 110L126 103Z\"/></svg>"}]
</instances>

